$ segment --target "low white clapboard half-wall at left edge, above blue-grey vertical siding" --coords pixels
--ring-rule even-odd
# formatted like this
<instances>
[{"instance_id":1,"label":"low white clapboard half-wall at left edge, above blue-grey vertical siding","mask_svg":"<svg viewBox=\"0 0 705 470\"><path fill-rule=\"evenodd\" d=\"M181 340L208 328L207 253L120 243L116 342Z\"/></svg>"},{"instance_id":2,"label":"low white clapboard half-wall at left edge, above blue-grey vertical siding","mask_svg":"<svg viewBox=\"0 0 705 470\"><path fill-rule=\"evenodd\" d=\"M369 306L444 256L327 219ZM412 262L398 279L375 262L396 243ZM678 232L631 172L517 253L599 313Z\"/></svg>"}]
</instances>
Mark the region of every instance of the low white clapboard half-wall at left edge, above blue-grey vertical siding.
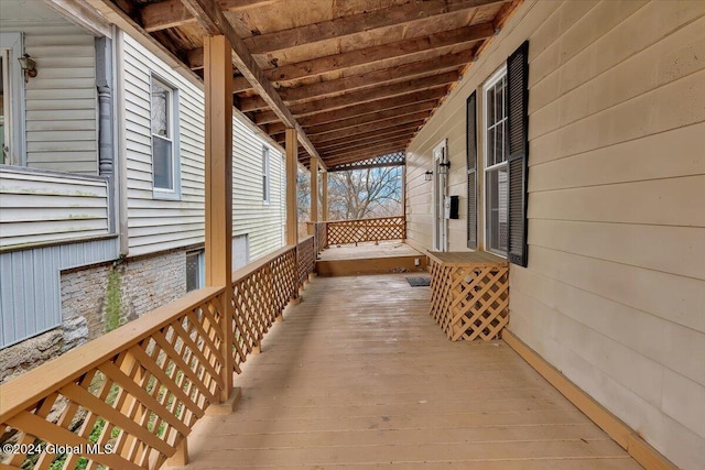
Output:
<instances>
[{"instance_id":1,"label":"low white clapboard half-wall at left edge, above blue-grey vertical siding","mask_svg":"<svg viewBox=\"0 0 705 470\"><path fill-rule=\"evenodd\" d=\"M0 248L108 234L108 182L0 166Z\"/></svg>"}]
</instances>

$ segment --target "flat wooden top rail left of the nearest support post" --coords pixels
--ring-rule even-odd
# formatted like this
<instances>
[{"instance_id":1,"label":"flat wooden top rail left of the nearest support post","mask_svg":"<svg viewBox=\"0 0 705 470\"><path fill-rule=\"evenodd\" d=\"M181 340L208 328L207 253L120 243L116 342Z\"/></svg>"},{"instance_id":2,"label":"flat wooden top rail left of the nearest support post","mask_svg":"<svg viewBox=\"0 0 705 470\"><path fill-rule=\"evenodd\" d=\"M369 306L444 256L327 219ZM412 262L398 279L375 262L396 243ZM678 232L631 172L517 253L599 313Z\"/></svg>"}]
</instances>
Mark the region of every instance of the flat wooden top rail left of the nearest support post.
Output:
<instances>
[{"instance_id":1,"label":"flat wooden top rail left of the nearest support post","mask_svg":"<svg viewBox=\"0 0 705 470\"><path fill-rule=\"evenodd\" d=\"M0 385L0 423L224 292L204 287Z\"/></svg>"}]
</instances>

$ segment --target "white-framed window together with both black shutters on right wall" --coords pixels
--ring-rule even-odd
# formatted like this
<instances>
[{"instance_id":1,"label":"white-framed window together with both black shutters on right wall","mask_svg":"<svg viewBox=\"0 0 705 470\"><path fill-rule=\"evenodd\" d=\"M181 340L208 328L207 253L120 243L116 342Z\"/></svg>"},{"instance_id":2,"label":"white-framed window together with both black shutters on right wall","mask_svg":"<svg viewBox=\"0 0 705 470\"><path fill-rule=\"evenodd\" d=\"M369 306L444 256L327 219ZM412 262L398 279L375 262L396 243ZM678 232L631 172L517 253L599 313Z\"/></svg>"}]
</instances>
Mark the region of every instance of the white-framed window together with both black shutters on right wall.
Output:
<instances>
[{"instance_id":1,"label":"white-framed window together with both black shutters on right wall","mask_svg":"<svg viewBox=\"0 0 705 470\"><path fill-rule=\"evenodd\" d=\"M478 243L478 161L484 155L485 249L527 266L529 42L467 98L467 247ZM477 109L482 97L482 110ZM481 118L481 119L478 119ZM481 121L481 124L480 124ZM478 152L477 136L484 136Z\"/></svg>"}]
</instances>

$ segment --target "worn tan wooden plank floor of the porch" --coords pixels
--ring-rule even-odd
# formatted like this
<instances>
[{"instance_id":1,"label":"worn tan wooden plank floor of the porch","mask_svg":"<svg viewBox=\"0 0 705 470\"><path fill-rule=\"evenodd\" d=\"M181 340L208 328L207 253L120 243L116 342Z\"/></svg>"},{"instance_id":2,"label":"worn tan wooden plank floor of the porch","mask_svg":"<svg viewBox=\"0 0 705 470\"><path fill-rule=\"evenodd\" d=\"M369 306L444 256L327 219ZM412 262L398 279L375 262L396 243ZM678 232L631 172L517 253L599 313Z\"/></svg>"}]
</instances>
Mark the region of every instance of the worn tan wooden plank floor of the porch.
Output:
<instances>
[{"instance_id":1,"label":"worn tan wooden plank floor of the porch","mask_svg":"<svg viewBox=\"0 0 705 470\"><path fill-rule=\"evenodd\" d=\"M189 469L639 469L503 342L451 342L404 275L315 278Z\"/></svg>"}]
</instances>

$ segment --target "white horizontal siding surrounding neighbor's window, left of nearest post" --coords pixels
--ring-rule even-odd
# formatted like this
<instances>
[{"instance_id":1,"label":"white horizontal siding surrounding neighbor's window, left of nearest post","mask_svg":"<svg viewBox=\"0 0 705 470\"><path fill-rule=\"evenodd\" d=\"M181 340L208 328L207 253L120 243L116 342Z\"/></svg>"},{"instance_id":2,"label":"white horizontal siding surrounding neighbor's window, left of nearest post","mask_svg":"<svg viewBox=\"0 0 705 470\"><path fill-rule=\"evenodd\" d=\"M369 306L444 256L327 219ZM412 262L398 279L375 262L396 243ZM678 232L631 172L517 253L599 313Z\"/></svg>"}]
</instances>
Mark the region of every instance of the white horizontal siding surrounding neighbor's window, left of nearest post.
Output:
<instances>
[{"instance_id":1,"label":"white horizontal siding surrounding neighbor's window, left of nearest post","mask_svg":"<svg viewBox=\"0 0 705 470\"><path fill-rule=\"evenodd\" d=\"M122 37L130 255L203 243L203 92L137 41L127 34ZM178 90L180 200L158 199L152 192L150 74Z\"/></svg>"}]
</instances>

